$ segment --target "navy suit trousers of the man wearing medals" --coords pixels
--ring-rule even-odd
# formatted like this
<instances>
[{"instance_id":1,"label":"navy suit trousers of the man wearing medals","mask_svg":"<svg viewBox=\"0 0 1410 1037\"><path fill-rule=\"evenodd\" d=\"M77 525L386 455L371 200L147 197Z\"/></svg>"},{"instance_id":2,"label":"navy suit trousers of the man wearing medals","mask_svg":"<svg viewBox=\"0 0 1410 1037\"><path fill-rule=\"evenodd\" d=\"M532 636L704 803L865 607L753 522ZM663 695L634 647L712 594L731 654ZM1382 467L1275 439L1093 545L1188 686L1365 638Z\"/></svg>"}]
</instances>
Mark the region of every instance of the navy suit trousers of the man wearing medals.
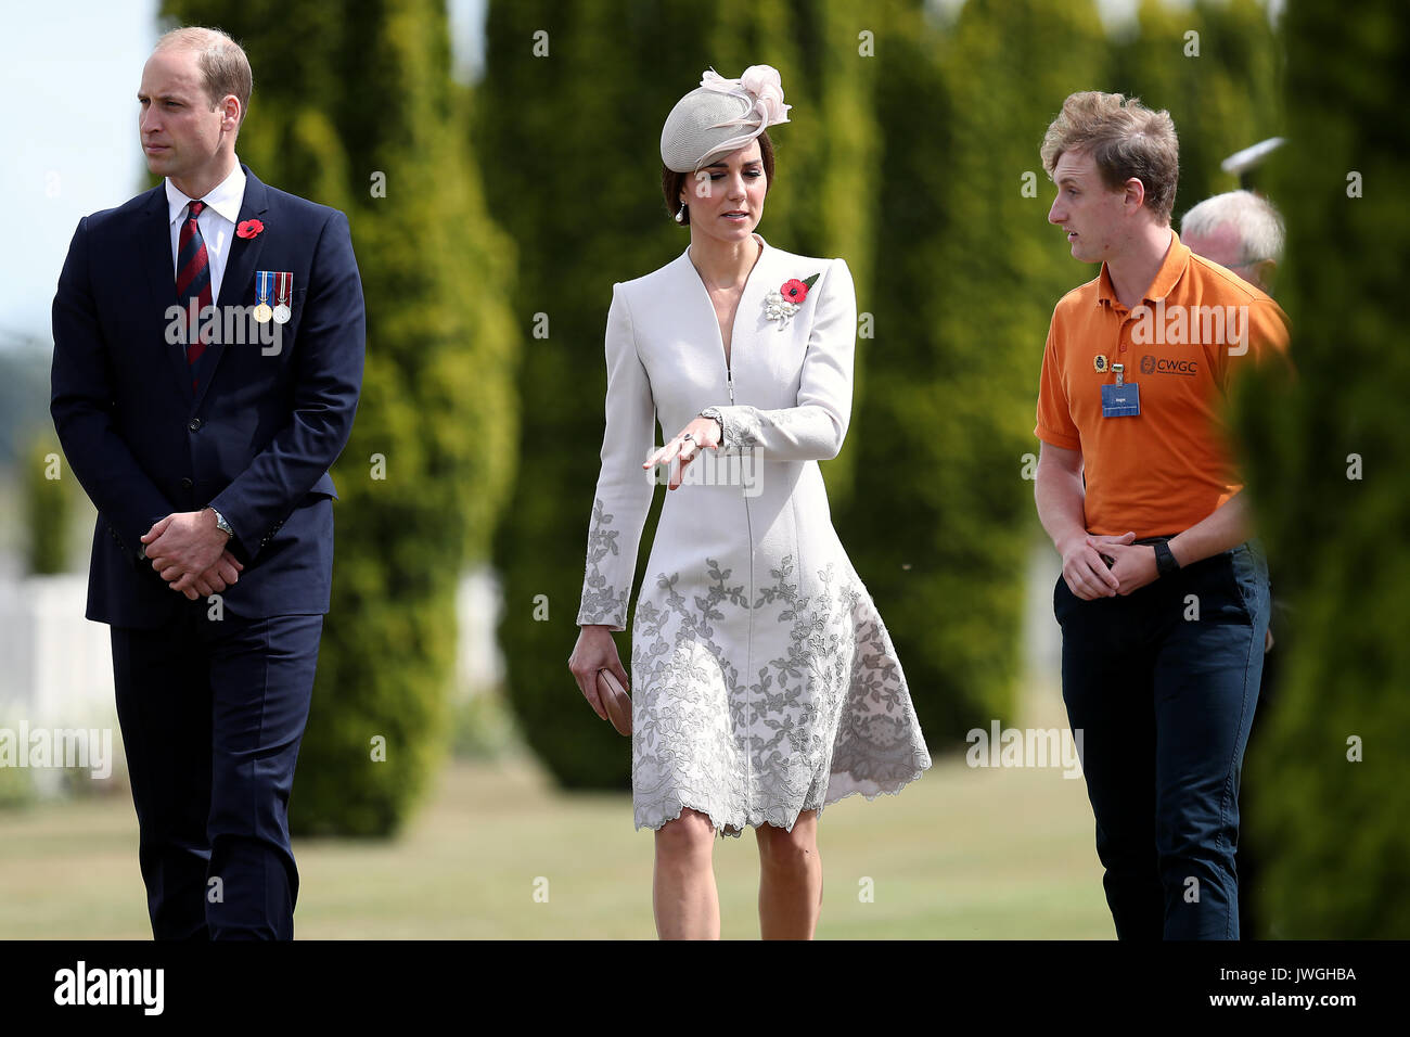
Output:
<instances>
[{"instance_id":1,"label":"navy suit trousers of the man wearing medals","mask_svg":"<svg viewBox=\"0 0 1410 1037\"><path fill-rule=\"evenodd\" d=\"M292 940L288 806L323 617L180 605L159 629L111 631L152 935Z\"/></svg>"}]
</instances>

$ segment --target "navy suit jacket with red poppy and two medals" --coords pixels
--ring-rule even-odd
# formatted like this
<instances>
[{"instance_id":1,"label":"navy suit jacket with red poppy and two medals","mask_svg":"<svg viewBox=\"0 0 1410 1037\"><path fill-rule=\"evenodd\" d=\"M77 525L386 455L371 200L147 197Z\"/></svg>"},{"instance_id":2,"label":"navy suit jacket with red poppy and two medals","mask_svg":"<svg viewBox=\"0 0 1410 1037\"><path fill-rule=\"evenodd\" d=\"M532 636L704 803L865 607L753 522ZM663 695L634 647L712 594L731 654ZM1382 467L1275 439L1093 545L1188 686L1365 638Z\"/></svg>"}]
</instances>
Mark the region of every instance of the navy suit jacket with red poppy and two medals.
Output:
<instances>
[{"instance_id":1,"label":"navy suit jacket with red poppy and two medals","mask_svg":"<svg viewBox=\"0 0 1410 1037\"><path fill-rule=\"evenodd\" d=\"M217 340L188 367L164 185L79 220L54 296L49 413L97 507L87 618L154 628L183 595L141 557L172 512L216 508L245 569L221 597L250 618L329 611L333 478L362 387L362 281L347 217L245 171L217 310L255 303L255 271L293 274L278 353ZM245 327L250 327L248 320ZM247 332L247 341L250 341ZM199 388L192 391L192 375Z\"/></svg>"}]
</instances>

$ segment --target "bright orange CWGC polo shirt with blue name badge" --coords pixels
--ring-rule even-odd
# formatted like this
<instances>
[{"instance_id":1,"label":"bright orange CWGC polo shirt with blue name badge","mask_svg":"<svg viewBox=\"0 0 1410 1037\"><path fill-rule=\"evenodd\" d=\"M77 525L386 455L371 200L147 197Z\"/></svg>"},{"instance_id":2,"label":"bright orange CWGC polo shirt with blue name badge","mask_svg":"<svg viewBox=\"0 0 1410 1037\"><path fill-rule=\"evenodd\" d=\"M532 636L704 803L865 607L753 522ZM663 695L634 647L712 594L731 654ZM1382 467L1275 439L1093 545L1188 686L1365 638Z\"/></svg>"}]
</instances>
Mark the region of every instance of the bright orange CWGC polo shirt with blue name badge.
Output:
<instances>
[{"instance_id":1,"label":"bright orange CWGC polo shirt with blue name badge","mask_svg":"<svg viewBox=\"0 0 1410 1037\"><path fill-rule=\"evenodd\" d=\"M1287 353L1276 302L1170 238L1144 303L1122 306L1101 264L1062 298L1048 329L1034 435L1081 451L1093 535L1175 535L1237 494L1224 419L1231 380ZM1103 418L1115 364L1141 387L1136 416Z\"/></svg>"}]
</instances>

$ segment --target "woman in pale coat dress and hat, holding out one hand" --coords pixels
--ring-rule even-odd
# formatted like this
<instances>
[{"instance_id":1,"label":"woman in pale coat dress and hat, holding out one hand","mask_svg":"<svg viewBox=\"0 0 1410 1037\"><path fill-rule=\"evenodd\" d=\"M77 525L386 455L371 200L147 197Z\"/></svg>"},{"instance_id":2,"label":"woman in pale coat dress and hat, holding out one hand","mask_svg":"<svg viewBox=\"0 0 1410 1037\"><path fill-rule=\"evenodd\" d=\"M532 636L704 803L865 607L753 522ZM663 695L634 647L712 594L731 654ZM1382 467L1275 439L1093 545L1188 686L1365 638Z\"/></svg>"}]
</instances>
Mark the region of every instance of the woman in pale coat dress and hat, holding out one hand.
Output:
<instances>
[{"instance_id":1,"label":"woman in pale coat dress and hat, holding out one hand","mask_svg":"<svg viewBox=\"0 0 1410 1037\"><path fill-rule=\"evenodd\" d=\"M599 717L601 670L632 694L634 820L656 831L663 938L719 937L713 837L744 825L759 838L764 938L811 938L823 807L897 793L931 766L818 467L852 412L852 274L754 233L773 179L764 130L790 107L767 65L735 80L706 72L675 104L663 185L691 244L613 285L608 312L606 432L570 669ZM612 633L626 629L658 473L668 490L629 680Z\"/></svg>"}]
</instances>

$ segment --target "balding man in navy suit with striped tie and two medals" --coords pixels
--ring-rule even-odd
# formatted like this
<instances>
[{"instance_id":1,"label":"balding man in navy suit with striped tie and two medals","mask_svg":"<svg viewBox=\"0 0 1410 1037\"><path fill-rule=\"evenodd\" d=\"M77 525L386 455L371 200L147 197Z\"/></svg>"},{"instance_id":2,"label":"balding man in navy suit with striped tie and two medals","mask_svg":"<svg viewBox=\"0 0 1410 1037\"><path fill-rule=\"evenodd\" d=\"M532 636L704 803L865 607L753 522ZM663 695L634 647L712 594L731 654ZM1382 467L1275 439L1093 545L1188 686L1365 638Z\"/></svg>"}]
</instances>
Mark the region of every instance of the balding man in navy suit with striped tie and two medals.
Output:
<instances>
[{"instance_id":1,"label":"balding man in navy suit with striped tie and two medals","mask_svg":"<svg viewBox=\"0 0 1410 1037\"><path fill-rule=\"evenodd\" d=\"M111 626L159 940L293 937L329 467L362 382L347 217L235 158L250 92L223 32L158 41L140 131L165 179L79 220L54 299L51 413L99 511L86 615Z\"/></svg>"}]
</instances>

